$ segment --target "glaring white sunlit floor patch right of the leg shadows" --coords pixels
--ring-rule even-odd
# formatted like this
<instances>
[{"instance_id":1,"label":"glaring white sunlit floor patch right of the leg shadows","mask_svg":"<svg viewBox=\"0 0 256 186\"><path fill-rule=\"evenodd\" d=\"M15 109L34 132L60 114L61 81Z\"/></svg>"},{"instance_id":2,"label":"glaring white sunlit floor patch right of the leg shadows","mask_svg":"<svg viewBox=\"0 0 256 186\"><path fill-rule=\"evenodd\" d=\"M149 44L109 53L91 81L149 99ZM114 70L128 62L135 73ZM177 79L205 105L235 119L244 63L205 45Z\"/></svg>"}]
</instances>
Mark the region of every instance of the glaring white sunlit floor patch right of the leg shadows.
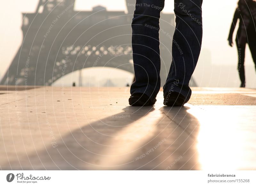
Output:
<instances>
[{"instance_id":1,"label":"glaring white sunlit floor patch right of the leg shadows","mask_svg":"<svg viewBox=\"0 0 256 186\"><path fill-rule=\"evenodd\" d=\"M188 112L200 122L197 147L202 169L256 167L255 106L200 106Z\"/></svg>"}]
</instances>

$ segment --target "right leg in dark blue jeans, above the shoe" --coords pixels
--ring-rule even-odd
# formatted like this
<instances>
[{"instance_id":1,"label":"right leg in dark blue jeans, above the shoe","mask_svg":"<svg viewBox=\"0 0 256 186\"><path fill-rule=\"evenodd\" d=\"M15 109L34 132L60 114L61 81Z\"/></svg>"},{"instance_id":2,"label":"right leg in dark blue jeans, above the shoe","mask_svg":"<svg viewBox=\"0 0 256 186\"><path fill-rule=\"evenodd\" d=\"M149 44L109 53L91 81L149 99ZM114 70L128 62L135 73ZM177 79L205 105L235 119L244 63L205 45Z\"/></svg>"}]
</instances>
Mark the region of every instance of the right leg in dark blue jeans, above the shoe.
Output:
<instances>
[{"instance_id":1,"label":"right leg in dark blue jeans, above the shoe","mask_svg":"<svg viewBox=\"0 0 256 186\"><path fill-rule=\"evenodd\" d=\"M172 64L164 85L164 97L178 92L191 96L188 84L195 70L202 44L202 3L203 0L174 0L176 28L172 42Z\"/></svg>"}]
</instances>

